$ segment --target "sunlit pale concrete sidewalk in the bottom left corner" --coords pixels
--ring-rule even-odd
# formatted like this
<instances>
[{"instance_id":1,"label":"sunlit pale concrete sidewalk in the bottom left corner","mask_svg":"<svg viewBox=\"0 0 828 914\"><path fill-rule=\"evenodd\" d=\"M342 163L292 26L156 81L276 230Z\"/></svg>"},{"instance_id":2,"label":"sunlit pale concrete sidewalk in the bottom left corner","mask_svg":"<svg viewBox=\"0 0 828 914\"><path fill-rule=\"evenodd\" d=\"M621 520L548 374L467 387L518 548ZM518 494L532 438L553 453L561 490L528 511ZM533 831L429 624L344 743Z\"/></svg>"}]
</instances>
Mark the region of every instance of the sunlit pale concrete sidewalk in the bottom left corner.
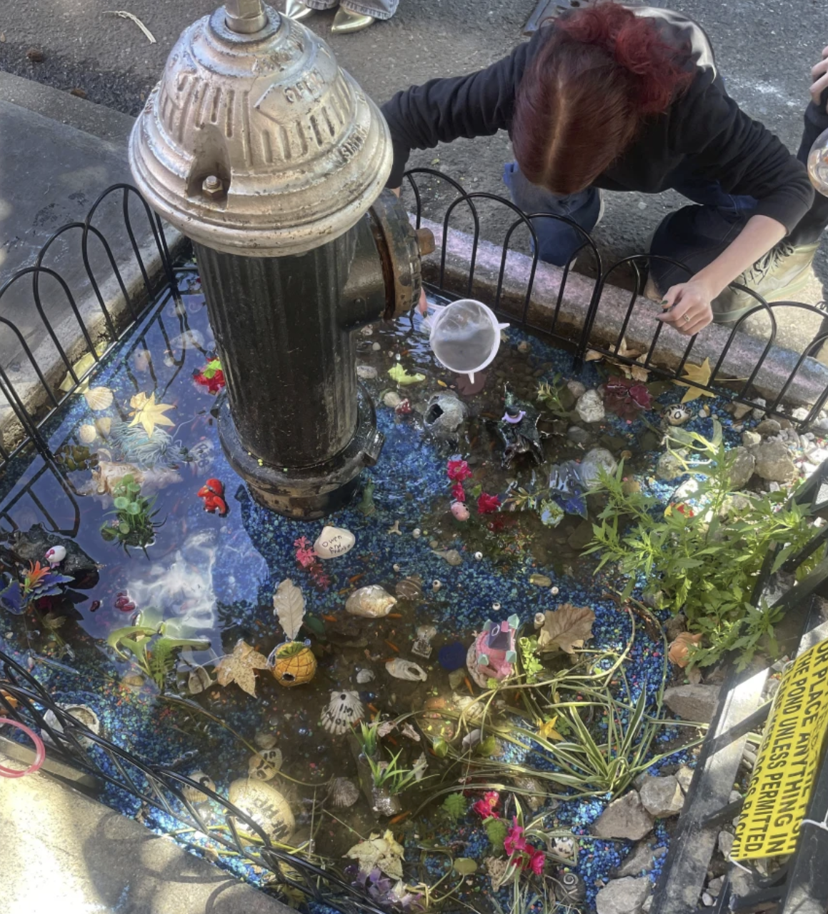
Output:
<instances>
[{"instance_id":1,"label":"sunlit pale concrete sidewalk in the bottom left corner","mask_svg":"<svg viewBox=\"0 0 828 914\"><path fill-rule=\"evenodd\" d=\"M0 778L0 835L3 914L290 912L44 774Z\"/></svg>"}]
</instances>

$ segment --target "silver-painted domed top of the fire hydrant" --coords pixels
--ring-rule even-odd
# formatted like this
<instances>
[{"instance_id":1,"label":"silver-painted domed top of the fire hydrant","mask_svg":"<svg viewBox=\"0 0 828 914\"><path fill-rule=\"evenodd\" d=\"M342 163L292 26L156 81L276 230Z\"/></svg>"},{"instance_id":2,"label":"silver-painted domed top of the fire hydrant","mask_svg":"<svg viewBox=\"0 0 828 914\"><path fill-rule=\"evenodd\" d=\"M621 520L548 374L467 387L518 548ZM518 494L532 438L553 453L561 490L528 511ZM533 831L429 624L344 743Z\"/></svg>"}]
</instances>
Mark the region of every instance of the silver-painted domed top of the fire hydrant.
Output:
<instances>
[{"instance_id":1,"label":"silver-painted domed top of the fire hydrant","mask_svg":"<svg viewBox=\"0 0 828 914\"><path fill-rule=\"evenodd\" d=\"M178 38L134 124L129 164L149 205L199 244L299 254L371 207L391 172L391 135L321 38L271 6L240 16L245 5Z\"/></svg>"}]
</instances>

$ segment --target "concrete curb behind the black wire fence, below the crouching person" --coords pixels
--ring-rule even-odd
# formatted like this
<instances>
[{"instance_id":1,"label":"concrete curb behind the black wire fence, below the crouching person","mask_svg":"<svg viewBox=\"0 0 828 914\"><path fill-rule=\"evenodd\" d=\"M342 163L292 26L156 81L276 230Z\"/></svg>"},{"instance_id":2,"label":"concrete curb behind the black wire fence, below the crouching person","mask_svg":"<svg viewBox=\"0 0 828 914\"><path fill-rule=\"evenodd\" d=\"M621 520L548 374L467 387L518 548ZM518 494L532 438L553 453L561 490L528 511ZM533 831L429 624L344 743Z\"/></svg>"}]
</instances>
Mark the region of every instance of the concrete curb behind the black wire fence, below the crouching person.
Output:
<instances>
[{"instance_id":1,"label":"concrete curb behind the black wire fence, below the crouching person","mask_svg":"<svg viewBox=\"0 0 828 914\"><path fill-rule=\"evenodd\" d=\"M414 218L412 217L412 221ZM425 258L423 269L425 279L436 282L440 270L440 250L443 243L441 224L422 220L424 228L434 232L436 252ZM446 289L460 295L468 293L468 274L471 268L473 238L466 232L450 228L446 244L446 272L443 284ZM485 302L493 302L500 279L503 250L500 245L480 240L475 259L472 295ZM532 274L532 258L510 251L503 269L500 306L503 311L518 316L522 314L526 290ZM532 286L528 320L537 326L551 326L558 306L558 296L564 271L548 263L538 263ZM561 298L554 332L557 335L578 338L586 321L586 313L592 299L595 282L580 273L570 272L566 278L564 295ZM621 327L627 316L630 293L617 286L605 285L597 309L590 343L608 347L615 345ZM630 349L649 352L652 338L658 326L655 315L660 309L646 298L640 297L629 318L624 335ZM725 327L712 325L704 330L693 346L689 360L695 364L710 359L714 367L730 338ZM730 346L720 369L720 376L747 378L764 353L767 341L757 336L738 333ZM687 346L685 337L665 327L661 331L658 345L651 360L658 366L675 368L681 362ZM799 353L779 345L770 346L768 356L759 368L754 381L761 395L769 401L774 399L790 377L800 357ZM813 358L802 364L796 377L785 392L784 402L792 406L811 406L828 388L828 367Z\"/></svg>"}]
</instances>

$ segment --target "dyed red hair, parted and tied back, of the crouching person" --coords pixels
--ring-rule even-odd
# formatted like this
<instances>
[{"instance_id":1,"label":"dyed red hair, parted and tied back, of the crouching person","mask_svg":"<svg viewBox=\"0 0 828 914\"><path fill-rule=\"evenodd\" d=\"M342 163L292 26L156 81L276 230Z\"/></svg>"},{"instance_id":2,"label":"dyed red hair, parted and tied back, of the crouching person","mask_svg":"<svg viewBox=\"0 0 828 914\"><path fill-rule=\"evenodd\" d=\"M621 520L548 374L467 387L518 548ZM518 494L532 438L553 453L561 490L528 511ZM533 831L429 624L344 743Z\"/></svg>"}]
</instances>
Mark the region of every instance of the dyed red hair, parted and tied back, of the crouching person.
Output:
<instances>
[{"instance_id":1,"label":"dyed red hair, parted and tied back, of the crouching person","mask_svg":"<svg viewBox=\"0 0 828 914\"><path fill-rule=\"evenodd\" d=\"M693 81L689 55L616 3L557 20L518 87L511 139L522 173L555 194L588 187Z\"/></svg>"}]
</instances>

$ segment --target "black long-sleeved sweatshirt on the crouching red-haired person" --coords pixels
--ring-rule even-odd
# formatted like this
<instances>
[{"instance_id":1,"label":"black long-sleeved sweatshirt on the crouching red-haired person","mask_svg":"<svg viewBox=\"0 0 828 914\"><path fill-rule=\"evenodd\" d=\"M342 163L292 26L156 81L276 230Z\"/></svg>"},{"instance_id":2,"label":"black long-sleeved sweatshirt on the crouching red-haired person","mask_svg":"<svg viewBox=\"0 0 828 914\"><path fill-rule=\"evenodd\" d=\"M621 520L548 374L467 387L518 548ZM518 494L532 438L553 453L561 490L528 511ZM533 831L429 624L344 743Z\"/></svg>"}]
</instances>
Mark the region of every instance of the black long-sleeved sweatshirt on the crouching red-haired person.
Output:
<instances>
[{"instance_id":1,"label":"black long-sleeved sweatshirt on the crouching red-haired person","mask_svg":"<svg viewBox=\"0 0 828 914\"><path fill-rule=\"evenodd\" d=\"M643 123L628 149L594 186L657 194L688 180L718 181L728 194L755 197L756 214L776 219L790 233L813 200L804 166L728 96L701 27L670 10L632 9L637 16L651 18L666 42L689 50L694 80L667 112ZM486 69L430 80L397 92L386 102L382 113L391 128L394 153L387 186L400 186L412 149L511 131L523 73L554 28L554 22L542 27L509 57Z\"/></svg>"}]
</instances>

